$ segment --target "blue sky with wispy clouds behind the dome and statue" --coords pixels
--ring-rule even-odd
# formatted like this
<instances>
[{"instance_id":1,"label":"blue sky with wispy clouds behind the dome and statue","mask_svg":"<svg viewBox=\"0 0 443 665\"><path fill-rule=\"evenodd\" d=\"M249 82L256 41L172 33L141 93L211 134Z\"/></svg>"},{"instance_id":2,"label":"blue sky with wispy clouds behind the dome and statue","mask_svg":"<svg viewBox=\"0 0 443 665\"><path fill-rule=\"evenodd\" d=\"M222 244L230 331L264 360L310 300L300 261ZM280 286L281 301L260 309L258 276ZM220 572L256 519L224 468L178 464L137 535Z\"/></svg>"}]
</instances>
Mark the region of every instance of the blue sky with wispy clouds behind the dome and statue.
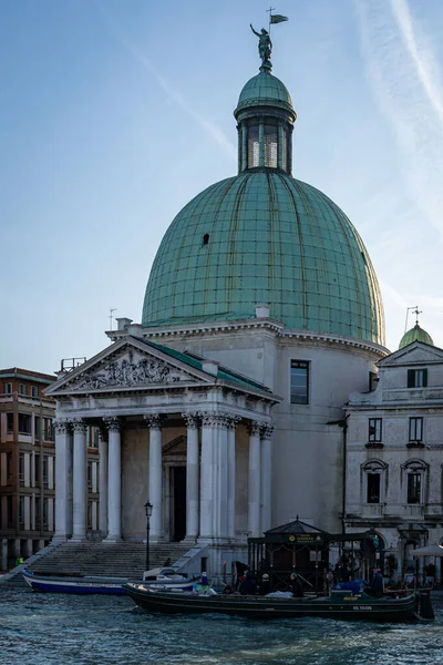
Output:
<instances>
[{"instance_id":1,"label":"blue sky with wispy clouds behind the dome and statue","mask_svg":"<svg viewBox=\"0 0 443 665\"><path fill-rule=\"evenodd\" d=\"M0 0L0 367L53 371L140 321L176 213L237 172L233 110L261 0ZM274 73L293 175L328 194L379 276L387 345L406 307L443 347L443 3L281 0ZM410 315L410 324L413 317ZM114 324L115 325L115 324Z\"/></svg>"}]
</instances>

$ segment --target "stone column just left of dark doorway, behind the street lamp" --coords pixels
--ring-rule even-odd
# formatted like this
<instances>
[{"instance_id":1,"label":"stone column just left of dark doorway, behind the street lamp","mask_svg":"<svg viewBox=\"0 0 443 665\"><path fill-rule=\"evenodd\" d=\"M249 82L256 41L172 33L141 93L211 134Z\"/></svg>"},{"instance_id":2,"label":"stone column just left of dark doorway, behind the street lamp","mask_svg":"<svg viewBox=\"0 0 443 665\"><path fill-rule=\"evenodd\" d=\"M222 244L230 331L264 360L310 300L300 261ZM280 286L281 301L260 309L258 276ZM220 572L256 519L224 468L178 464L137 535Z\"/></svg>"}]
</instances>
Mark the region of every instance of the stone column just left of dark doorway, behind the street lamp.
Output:
<instances>
[{"instance_id":1,"label":"stone column just left of dark doorway, behind the street lamp","mask_svg":"<svg viewBox=\"0 0 443 665\"><path fill-rule=\"evenodd\" d=\"M150 428L150 478L148 500L153 505L150 521L151 539L155 542L163 535L162 529L162 416L150 413L145 416Z\"/></svg>"}]
</instances>

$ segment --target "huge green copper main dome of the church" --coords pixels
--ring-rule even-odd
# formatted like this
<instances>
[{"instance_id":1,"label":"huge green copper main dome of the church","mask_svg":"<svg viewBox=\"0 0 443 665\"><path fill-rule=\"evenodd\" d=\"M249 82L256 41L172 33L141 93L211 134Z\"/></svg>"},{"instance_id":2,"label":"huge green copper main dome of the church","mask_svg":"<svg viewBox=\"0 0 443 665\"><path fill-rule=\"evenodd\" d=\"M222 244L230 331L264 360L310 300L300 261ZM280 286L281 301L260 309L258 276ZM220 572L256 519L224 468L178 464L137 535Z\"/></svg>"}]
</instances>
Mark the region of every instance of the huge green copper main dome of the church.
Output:
<instances>
[{"instance_id":1,"label":"huge green copper main dome of the church","mask_svg":"<svg viewBox=\"0 0 443 665\"><path fill-rule=\"evenodd\" d=\"M375 273L348 217L315 187L260 167L212 185L178 213L151 270L142 324L254 319L264 303L289 328L384 344Z\"/></svg>"}]
</instances>

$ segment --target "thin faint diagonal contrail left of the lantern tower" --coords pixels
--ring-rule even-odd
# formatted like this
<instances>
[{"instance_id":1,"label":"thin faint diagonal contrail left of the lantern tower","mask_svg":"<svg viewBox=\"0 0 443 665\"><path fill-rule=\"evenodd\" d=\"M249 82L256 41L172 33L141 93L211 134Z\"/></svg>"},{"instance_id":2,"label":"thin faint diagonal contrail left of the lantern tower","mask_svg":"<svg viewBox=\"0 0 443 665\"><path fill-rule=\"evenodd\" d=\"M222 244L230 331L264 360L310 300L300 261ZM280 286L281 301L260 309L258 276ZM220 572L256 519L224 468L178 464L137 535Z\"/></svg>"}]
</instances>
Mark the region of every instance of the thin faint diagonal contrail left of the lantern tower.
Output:
<instances>
[{"instance_id":1,"label":"thin faint diagonal contrail left of the lantern tower","mask_svg":"<svg viewBox=\"0 0 443 665\"><path fill-rule=\"evenodd\" d=\"M143 51L135 44L133 44L128 37L119 28L114 19L110 16L107 9L100 0L95 0L95 4L114 37L134 57L134 59L154 76L167 96L178 106L181 106L181 109L183 109L188 115L190 115L190 117L193 117L200 125L200 127L224 150L224 152L226 152L230 157L237 157L236 147L224 134L224 132L210 121L206 120L196 111L194 111L194 109L186 103L183 96L165 81L146 54L143 53Z\"/></svg>"}]
</instances>

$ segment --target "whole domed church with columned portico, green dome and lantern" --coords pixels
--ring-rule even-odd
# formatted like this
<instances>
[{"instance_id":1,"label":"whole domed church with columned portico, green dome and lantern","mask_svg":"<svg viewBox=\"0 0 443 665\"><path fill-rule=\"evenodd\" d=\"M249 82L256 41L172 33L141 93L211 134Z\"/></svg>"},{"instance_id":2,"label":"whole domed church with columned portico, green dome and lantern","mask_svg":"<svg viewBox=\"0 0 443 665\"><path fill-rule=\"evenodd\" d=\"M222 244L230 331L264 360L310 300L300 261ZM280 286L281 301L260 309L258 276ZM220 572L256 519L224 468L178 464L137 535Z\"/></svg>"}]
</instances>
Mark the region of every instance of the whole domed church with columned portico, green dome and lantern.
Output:
<instances>
[{"instance_id":1,"label":"whole domed church with columned portico, green dome and lantern","mask_svg":"<svg viewBox=\"0 0 443 665\"><path fill-rule=\"evenodd\" d=\"M384 348L380 289L344 213L292 177L296 112L269 54L235 110L238 175L167 229L142 323L48 390L56 400L55 539L87 538L85 431L100 442L100 532L209 545L299 515L344 528L343 405ZM214 555L217 565L219 555Z\"/></svg>"}]
</instances>

